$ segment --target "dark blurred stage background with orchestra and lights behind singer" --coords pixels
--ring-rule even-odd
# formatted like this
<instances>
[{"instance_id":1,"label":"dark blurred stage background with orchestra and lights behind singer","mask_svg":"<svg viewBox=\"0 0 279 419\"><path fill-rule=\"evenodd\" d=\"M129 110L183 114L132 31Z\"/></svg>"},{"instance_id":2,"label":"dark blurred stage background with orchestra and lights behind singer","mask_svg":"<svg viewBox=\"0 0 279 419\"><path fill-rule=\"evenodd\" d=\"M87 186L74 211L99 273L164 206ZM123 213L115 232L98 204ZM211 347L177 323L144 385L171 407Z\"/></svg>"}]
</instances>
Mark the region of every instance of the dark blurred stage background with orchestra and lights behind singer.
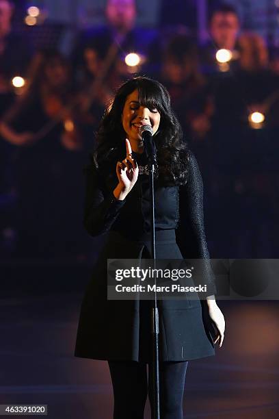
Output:
<instances>
[{"instance_id":1,"label":"dark blurred stage background with orchestra and lights behind singer","mask_svg":"<svg viewBox=\"0 0 279 419\"><path fill-rule=\"evenodd\" d=\"M0 0L0 403L111 418L107 364L73 356L104 240L83 229L82 168L129 77L170 91L211 257L278 258L278 22L277 0ZM224 344L189 363L185 418L278 418L278 302L220 308Z\"/></svg>"}]
</instances>

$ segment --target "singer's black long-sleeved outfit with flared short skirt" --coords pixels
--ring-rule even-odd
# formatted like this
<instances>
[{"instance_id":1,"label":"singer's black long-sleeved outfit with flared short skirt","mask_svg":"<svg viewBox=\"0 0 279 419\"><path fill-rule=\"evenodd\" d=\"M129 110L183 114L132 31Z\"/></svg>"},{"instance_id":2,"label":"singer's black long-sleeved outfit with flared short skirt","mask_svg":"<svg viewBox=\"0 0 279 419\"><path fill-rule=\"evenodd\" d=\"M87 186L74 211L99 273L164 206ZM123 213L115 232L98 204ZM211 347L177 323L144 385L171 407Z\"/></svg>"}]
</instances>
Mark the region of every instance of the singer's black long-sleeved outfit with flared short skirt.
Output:
<instances>
[{"instance_id":1,"label":"singer's black long-sleeved outfit with flared short skirt","mask_svg":"<svg viewBox=\"0 0 279 419\"><path fill-rule=\"evenodd\" d=\"M93 166L88 166L85 228L92 236L107 231L109 235L83 297L75 356L146 360L150 356L148 307L151 302L107 300L107 259L138 259L150 253L148 177L139 175L124 201L114 197L117 183L117 177L102 181ZM209 257L202 201L200 170L193 153L189 152L186 186L163 187L155 181L158 259ZM213 280L207 272L206 295L216 292ZM161 361L215 355L204 301L159 300L158 307Z\"/></svg>"}]
</instances>

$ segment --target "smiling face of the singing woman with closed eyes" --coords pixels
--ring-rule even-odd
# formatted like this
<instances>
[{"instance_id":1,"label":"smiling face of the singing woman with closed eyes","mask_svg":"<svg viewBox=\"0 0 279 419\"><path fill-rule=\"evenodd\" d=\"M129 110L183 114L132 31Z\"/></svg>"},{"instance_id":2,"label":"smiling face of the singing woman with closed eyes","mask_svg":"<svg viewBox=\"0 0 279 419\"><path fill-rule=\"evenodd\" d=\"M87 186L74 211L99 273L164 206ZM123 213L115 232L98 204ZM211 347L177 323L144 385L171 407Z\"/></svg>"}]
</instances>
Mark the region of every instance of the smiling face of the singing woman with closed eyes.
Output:
<instances>
[{"instance_id":1,"label":"smiling face of the singing woman with closed eyes","mask_svg":"<svg viewBox=\"0 0 279 419\"><path fill-rule=\"evenodd\" d=\"M137 90L127 96L122 111L122 125L127 138L134 144L142 142L139 136L139 128L142 125L151 125L154 135L158 131L160 119L157 109L148 109L139 104Z\"/></svg>"}]
</instances>

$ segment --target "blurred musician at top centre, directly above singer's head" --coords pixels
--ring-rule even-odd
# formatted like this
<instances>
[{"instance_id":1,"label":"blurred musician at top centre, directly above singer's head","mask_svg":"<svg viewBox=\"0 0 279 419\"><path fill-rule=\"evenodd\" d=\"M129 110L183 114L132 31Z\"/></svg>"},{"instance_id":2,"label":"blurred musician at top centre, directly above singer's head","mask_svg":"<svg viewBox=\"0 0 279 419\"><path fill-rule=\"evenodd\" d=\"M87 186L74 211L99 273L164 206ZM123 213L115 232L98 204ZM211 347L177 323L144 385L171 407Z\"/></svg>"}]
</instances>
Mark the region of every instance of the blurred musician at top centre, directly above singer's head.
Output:
<instances>
[{"instance_id":1,"label":"blurred musician at top centre, directly above singer's head","mask_svg":"<svg viewBox=\"0 0 279 419\"><path fill-rule=\"evenodd\" d=\"M98 51L101 58L99 75L101 84L111 91L131 73L138 73L148 54L148 47L155 38L157 31L148 27L136 27L137 6L135 0L107 0L105 6L105 25L92 27L79 34L77 44L73 50L75 66L81 68L84 53L88 48ZM131 68L124 59L128 53L137 53L141 62Z\"/></svg>"}]
</instances>

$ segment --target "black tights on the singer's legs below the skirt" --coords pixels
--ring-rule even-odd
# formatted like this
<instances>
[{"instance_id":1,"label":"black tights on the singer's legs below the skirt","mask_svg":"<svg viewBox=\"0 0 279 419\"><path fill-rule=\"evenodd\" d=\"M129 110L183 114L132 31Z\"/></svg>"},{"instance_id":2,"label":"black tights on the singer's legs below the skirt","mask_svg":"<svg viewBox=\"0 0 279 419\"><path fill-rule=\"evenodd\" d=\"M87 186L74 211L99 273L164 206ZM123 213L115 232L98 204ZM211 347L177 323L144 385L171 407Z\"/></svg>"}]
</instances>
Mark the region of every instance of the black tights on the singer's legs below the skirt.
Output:
<instances>
[{"instance_id":1,"label":"black tights on the singer's legs below the skirt","mask_svg":"<svg viewBox=\"0 0 279 419\"><path fill-rule=\"evenodd\" d=\"M152 366L136 361L108 361L114 388L114 419L144 419L147 394L152 407ZM188 361L163 361L160 372L161 419L183 419L183 392ZM152 408L151 408L152 411ZM153 415L152 415L153 419Z\"/></svg>"}]
</instances>

